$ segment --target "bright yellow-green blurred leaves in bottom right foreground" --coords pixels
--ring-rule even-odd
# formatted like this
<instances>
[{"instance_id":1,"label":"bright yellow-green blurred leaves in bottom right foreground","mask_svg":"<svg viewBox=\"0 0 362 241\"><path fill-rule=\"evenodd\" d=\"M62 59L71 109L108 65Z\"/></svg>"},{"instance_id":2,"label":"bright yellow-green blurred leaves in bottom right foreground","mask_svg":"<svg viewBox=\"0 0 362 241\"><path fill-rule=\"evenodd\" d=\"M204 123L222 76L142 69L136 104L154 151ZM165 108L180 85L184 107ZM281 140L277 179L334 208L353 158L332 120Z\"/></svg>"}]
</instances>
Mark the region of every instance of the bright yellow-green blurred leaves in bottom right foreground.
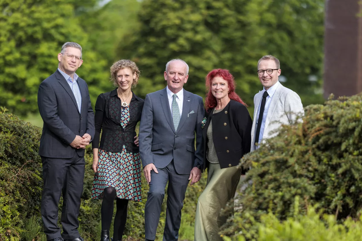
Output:
<instances>
[{"instance_id":1,"label":"bright yellow-green blurred leaves in bottom right foreground","mask_svg":"<svg viewBox=\"0 0 362 241\"><path fill-rule=\"evenodd\" d=\"M297 204L298 207L298 204ZM298 213L298 210L296 210ZM237 220L240 222L241 220ZM362 237L362 220L349 217L338 223L333 215L320 215L309 207L307 215L295 215L280 222L272 213L263 214L260 222L253 221L258 232L258 241L359 241ZM243 234L225 241L245 241Z\"/></svg>"}]
</instances>

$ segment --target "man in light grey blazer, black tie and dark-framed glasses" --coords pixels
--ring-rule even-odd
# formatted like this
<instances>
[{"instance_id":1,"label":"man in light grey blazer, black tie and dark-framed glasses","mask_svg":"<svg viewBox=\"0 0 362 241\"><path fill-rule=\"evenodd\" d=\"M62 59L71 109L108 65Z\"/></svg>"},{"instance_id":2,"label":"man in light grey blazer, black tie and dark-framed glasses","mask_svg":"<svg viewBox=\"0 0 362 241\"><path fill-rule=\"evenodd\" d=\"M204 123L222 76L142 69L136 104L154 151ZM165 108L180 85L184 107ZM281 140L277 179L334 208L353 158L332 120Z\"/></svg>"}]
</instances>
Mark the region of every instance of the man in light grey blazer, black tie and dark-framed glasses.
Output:
<instances>
[{"instance_id":1,"label":"man in light grey blazer, black tie and dark-framed glasses","mask_svg":"<svg viewBox=\"0 0 362 241\"><path fill-rule=\"evenodd\" d=\"M304 115L298 94L278 81L281 74L279 60L271 55L263 56L257 68L264 88L254 96L251 151L263 140L277 135L282 124L294 123L298 115Z\"/></svg>"}]
</instances>

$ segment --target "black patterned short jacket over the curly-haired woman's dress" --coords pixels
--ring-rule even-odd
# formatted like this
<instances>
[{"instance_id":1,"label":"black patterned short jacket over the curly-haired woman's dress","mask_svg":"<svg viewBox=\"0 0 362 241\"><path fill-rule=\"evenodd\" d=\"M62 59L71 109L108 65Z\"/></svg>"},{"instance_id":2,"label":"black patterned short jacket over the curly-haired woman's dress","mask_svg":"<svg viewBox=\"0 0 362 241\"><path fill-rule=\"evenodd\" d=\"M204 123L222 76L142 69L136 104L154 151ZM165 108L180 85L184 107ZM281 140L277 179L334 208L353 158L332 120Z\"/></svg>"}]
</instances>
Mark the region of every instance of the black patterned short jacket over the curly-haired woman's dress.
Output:
<instances>
[{"instance_id":1,"label":"black patterned short jacket over the curly-haired woman's dress","mask_svg":"<svg viewBox=\"0 0 362 241\"><path fill-rule=\"evenodd\" d=\"M96 102L94 127L96 134L92 141L92 148L101 148L109 152L122 152L123 145L128 152L139 152L134 144L136 124L141 120L144 100L132 92L130 102L130 121L125 129L121 126L122 101L118 97L117 88L111 92L100 94ZM101 144L99 138L102 132Z\"/></svg>"}]
</instances>

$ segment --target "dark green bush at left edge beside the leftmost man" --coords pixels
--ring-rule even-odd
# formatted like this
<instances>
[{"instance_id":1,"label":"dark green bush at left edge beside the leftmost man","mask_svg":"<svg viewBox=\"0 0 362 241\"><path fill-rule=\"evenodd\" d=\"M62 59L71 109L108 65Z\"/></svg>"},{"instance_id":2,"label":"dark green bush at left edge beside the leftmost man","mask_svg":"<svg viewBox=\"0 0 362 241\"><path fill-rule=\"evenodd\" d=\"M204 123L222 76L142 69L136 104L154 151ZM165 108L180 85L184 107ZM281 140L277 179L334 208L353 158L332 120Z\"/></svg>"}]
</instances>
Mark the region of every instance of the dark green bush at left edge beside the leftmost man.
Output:
<instances>
[{"instance_id":1,"label":"dark green bush at left edge beside the leftmost man","mask_svg":"<svg viewBox=\"0 0 362 241\"><path fill-rule=\"evenodd\" d=\"M40 210L41 130L0 114L0 240L19 238L23 220Z\"/></svg>"}]
</instances>

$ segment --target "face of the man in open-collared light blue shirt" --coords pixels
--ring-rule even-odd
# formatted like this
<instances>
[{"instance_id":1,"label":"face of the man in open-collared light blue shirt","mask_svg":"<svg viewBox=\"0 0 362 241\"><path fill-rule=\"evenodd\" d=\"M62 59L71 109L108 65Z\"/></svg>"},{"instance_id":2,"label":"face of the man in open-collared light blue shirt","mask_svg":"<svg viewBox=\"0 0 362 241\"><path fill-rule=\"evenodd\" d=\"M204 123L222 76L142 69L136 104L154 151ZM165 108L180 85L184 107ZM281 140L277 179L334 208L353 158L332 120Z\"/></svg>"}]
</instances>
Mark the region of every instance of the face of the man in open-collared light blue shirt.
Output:
<instances>
[{"instance_id":1,"label":"face of the man in open-collared light blue shirt","mask_svg":"<svg viewBox=\"0 0 362 241\"><path fill-rule=\"evenodd\" d=\"M82 53L78 48L66 47L64 54L58 54L59 69L72 76L83 63L83 60L79 59L81 55ZM71 56L73 58L70 58Z\"/></svg>"}]
</instances>

